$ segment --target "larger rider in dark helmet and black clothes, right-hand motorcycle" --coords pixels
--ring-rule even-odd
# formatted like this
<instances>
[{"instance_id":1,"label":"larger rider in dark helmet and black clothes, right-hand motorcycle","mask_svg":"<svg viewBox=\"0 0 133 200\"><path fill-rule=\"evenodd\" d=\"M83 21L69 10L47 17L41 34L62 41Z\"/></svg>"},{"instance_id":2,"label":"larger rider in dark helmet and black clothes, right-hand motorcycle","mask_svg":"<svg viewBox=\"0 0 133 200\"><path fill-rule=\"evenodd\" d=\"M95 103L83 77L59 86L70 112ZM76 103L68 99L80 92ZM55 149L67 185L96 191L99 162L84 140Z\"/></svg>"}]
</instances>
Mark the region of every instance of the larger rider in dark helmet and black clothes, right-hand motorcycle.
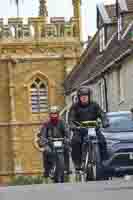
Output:
<instances>
[{"instance_id":1,"label":"larger rider in dark helmet and black clothes, right-hand motorcycle","mask_svg":"<svg viewBox=\"0 0 133 200\"><path fill-rule=\"evenodd\" d=\"M73 103L69 112L69 123L72 129L75 127L74 121L95 121L98 118L101 119L104 127L108 125L108 120L105 113L96 102L92 101L91 96L92 91L87 86L82 86L77 90L77 102ZM75 169L81 169L85 165L85 157L82 158L82 144L87 132L85 129L80 129L79 131L80 134L77 134L76 130L73 131L72 137L72 160ZM101 149L101 156L102 159L104 159L106 143L104 136L99 130L97 130L97 137Z\"/></svg>"}]
</instances>

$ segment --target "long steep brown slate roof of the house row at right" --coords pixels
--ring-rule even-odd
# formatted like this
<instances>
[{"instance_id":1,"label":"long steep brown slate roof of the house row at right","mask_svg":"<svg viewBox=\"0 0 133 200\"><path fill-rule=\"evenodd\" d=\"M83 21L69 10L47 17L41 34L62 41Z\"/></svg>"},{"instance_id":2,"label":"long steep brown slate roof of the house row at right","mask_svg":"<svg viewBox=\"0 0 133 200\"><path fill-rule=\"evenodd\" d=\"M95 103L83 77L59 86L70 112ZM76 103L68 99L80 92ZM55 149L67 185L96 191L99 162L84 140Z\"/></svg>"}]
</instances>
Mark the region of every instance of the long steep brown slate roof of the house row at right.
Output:
<instances>
[{"instance_id":1,"label":"long steep brown slate roof of the house row at right","mask_svg":"<svg viewBox=\"0 0 133 200\"><path fill-rule=\"evenodd\" d=\"M127 0L127 2L130 11L133 11L133 0ZM111 9L114 9L114 5L111 5L110 12L112 12ZM100 54L98 50L97 32L90 45L88 45L81 56L79 63L77 63L73 71L66 78L64 82L66 93L72 92L84 81L94 81L96 77L107 70L107 67L108 69L112 67L111 63L118 60L118 58L120 61L125 56L133 54L133 42L131 42L128 34L131 30L133 31L133 24L123 40L118 41L116 34L108 48L102 54Z\"/></svg>"}]
</instances>

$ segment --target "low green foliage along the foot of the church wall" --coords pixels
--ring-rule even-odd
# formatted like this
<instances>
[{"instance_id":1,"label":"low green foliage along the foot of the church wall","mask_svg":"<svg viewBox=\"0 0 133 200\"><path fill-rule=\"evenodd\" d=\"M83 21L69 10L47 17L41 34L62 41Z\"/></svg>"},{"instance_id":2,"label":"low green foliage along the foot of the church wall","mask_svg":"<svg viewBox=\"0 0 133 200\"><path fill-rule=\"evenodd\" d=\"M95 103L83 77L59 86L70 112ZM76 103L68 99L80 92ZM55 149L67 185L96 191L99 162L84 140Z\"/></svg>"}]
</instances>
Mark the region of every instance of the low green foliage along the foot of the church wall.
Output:
<instances>
[{"instance_id":1,"label":"low green foliage along the foot of the church wall","mask_svg":"<svg viewBox=\"0 0 133 200\"><path fill-rule=\"evenodd\" d=\"M15 176L9 185L41 184L43 179L43 176Z\"/></svg>"}]
</instances>

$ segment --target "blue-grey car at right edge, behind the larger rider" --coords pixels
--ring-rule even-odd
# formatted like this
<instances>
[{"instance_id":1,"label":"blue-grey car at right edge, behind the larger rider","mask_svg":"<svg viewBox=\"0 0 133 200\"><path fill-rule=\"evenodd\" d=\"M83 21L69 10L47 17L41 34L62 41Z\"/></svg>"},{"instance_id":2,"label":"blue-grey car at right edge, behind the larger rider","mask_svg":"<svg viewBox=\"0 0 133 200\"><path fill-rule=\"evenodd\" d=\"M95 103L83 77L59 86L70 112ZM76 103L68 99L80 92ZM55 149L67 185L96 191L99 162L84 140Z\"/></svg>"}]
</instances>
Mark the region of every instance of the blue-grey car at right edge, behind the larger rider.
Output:
<instances>
[{"instance_id":1,"label":"blue-grey car at right edge, behind the larger rider","mask_svg":"<svg viewBox=\"0 0 133 200\"><path fill-rule=\"evenodd\" d=\"M109 126L102 129L106 140L107 158L97 167L101 176L133 175L133 116L131 112L107 114ZM101 171L99 171L101 170Z\"/></svg>"}]
</instances>

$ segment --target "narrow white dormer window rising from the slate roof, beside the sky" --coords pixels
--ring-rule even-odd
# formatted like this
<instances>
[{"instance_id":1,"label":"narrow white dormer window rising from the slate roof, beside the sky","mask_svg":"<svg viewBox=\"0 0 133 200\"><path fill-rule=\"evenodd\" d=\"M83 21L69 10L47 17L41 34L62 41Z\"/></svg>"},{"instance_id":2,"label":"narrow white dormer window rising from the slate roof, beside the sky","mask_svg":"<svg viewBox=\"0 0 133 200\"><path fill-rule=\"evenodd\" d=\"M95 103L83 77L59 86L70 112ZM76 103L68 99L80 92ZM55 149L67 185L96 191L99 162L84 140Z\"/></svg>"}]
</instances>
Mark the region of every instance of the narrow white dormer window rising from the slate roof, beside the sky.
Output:
<instances>
[{"instance_id":1,"label":"narrow white dormer window rising from the slate roof, beside the sky","mask_svg":"<svg viewBox=\"0 0 133 200\"><path fill-rule=\"evenodd\" d=\"M102 52L105 49L106 37L105 27L99 30L99 51Z\"/></svg>"}]
</instances>

